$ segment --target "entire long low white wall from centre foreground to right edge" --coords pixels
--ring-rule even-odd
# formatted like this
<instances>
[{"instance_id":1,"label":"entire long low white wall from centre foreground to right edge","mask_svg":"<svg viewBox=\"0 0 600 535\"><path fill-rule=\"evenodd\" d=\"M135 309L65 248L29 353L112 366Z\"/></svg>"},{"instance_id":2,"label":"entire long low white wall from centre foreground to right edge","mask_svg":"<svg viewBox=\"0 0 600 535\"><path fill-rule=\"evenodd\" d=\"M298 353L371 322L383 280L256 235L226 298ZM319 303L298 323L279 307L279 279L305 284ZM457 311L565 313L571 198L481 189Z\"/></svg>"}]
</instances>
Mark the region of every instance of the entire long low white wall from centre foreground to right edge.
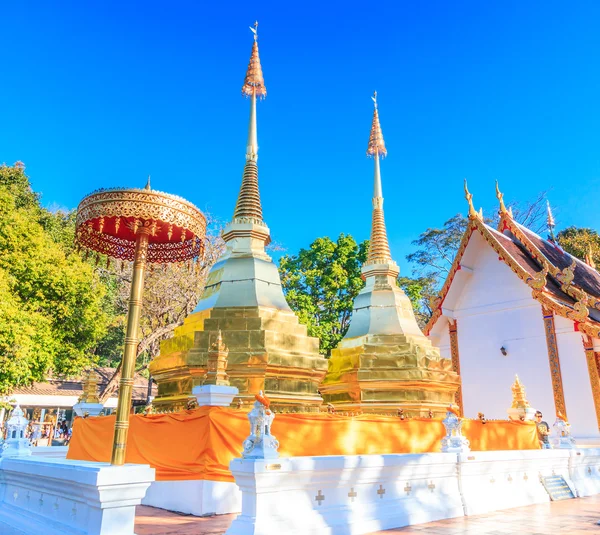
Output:
<instances>
[{"instance_id":1,"label":"entire long low white wall from centre foreground to right edge","mask_svg":"<svg viewBox=\"0 0 600 535\"><path fill-rule=\"evenodd\" d=\"M542 478L600 493L600 449L235 459L226 535L361 535L550 501Z\"/></svg>"}]
</instances>

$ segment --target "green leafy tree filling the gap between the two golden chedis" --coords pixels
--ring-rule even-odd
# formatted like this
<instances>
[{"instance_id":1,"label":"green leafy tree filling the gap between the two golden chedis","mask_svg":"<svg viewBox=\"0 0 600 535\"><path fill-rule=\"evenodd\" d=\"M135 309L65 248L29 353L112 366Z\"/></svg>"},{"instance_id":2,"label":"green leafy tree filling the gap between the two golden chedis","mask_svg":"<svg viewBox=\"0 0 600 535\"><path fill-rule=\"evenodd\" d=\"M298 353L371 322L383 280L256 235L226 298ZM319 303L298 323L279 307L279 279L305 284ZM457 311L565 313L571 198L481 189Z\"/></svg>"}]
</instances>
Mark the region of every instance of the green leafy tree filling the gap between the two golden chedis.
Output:
<instances>
[{"instance_id":1,"label":"green leafy tree filling the gap between the two golden chedis","mask_svg":"<svg viewBox=\"0 0 600 535\"><path fill-rule=\"evenodd\" d=\"M368 246L368 241L358 244L340 234L336 241L317 238L308 249L280 260L287 301L308 333L321 340L324 355L330 355L348 330L352 303L364 285L360 268Z\"/></svg>"}]
</instances>

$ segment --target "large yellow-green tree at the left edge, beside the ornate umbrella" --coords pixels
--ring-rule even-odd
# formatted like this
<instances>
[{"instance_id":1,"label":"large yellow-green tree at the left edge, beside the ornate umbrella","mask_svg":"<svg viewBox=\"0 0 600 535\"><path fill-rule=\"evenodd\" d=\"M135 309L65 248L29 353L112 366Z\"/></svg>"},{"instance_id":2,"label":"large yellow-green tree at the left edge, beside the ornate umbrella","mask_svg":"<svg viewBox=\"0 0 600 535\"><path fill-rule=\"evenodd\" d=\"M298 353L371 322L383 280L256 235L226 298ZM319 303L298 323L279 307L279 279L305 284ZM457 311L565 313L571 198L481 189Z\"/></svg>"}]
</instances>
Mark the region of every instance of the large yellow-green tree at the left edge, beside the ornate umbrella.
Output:
<instances>
[{"instance_id":1,"label":"large yellow-green tree at the left edge, beside the ornate umbrella","mask_svg":"<svg viewBox=\"0 0 600 535\"><path fill-rule=\"evenodd\" d=\"M43 224L24 166L0 166L0 391L74 375L106 332L105 287ZM10 364L9 364L10 363Z\"/></svg>"}]
</instances>

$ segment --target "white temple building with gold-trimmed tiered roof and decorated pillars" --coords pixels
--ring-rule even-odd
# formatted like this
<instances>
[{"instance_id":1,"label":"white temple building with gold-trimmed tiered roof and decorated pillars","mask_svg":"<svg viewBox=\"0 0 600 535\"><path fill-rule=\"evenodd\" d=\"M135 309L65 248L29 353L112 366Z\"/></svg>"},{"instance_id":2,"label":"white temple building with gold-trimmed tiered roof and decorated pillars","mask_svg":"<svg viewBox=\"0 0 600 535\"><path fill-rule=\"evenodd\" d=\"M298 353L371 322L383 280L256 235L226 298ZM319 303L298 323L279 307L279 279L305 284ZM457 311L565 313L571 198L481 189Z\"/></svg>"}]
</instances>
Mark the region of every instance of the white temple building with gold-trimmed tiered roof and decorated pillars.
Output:
<instances>
[{"instance_id":1,"label":"white temple building with gold-trimmed tiered roof and decorated pillars","mask_svg":"<svg viewBox=\"0 0 600 535\"><path fill-rule=\"evenodd\" d=\"M469 224L425 328L461 376L458 405L467 417L506 418L518 374L545 420L560 412L576 438L597 439L600 274L514 221L498 189L498 228L465 193Z\"/></svg>"}]
</instances>

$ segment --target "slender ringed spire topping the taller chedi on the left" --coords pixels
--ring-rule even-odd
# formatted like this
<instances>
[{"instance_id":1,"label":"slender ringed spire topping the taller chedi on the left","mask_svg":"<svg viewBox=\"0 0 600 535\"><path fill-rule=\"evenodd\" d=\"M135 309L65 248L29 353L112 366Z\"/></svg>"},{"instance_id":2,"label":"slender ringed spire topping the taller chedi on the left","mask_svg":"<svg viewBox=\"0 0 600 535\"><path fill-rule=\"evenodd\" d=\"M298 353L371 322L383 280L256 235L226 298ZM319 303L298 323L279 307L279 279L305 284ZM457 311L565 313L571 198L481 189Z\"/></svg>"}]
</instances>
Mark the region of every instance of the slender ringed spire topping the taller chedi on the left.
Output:
<instances>
[{"instance_id":1,"label":"slender ringed spire topping the taller chedi on the left","mask_svg":"<svg viewBox=\"0 0 600 535\"><path fill-rule=\"evenodd\" d=\"M250 28L254 34L250 62L242 86L242 94L250 97L250 121L248 125L248 143L246 145L246 165L242 176L242 186L233 214L234 220L250 220L259 224L262 221L262 206L258 190L258 134L256 127L256 97L267 96L267 88L258 55L258 22Z\"/></svg>"}]
</instances>

